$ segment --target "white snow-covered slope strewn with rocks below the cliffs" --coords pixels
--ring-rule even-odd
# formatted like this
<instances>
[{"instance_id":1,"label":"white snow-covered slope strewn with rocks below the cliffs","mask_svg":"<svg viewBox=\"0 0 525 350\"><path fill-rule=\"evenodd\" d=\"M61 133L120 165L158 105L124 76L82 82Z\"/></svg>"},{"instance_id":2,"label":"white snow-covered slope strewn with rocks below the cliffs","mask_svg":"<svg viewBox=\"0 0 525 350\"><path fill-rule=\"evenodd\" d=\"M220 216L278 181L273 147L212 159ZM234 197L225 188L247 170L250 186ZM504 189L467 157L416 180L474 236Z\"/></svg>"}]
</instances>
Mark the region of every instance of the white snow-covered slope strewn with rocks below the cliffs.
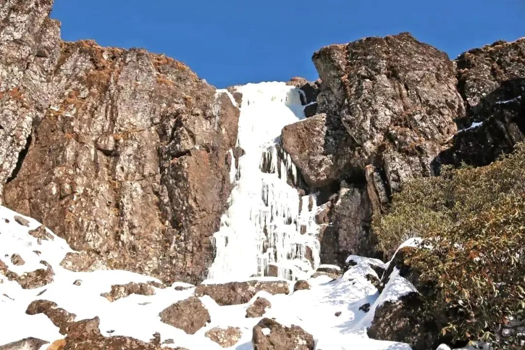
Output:
<instances>
[{"instance_id":1,"label":"white snow-covered slope strewn with rocks below the cliffs","mask_svg":"<svg viewBox=\"0 0 525 350\"><path fill-rule=\"evenodd\" d=\"M237 326L243 335L239 342L230 349L251 349L251 329L260 320L245 317L246 308L251 303L243 305L219 306L208 296L201 298L208 309L212 322L201 328L194 335L187 335L170 325L160 322L159 312L178 300L186 299L194 294L194 288L177 291L175 283L169 288L155 288L155 295L145 296L132 294L114 302L109 302L101 296L108 292L112 284L128 282L155 281L154 278L128 271L94 271L72 272L60 267L60 261L71 249L67 243L53 235L53 240L42 240L28 234L40 224L29 221L29 227L18 224L14 217L18 215L12 210L0 207L0 259L10 271L22 274L45 268L40 263L46 261L53 268L54 281L36 289L22 289L15 281L9 281L0 274L0 344L17 341L33 336L53 342L63 336L45 315L27 315L28 304L33 300L45 299L54 301L59 307L77 315L76 320L100 317L100 331L103 335L125 335L148 342L155 332L161 334L162 341L175 340L169 347L182 346L191 350L221 349L221 347L204 336L204 333L215 326ZM8 222L7 222L8 221ZM40 251L38 256L34 251ZM10 260L12 254L19 254L25 264L16 266ZM372 311L364 313L358 310L365 303L374 306L386 298L398 298L412 290L403 278L391 279L395 284L395 293L385 296L379 293L373 285L364 278L365 274L375 272L369 263L383 265L381 261L353 257L358 262L347 271L341 279L331 281L326 276L310 279L311 290L301 290L290 295L270 295L259 292L257 296L267 298L272 307L265 317L275 317L278 322L290 325L296 324L311 333L316 339L316 348L322 350L338 349L396 349L409 350L406 344L370 340L366 336L366 326L370 324ZM75 285L81 280L80 285ZM39 295L40 294L40 295ZM339 317L336 312L341 312ZM110 333L111 332L111 333ZM45 348L45 346L43 347Z\"/></svg>"}]
</instances>

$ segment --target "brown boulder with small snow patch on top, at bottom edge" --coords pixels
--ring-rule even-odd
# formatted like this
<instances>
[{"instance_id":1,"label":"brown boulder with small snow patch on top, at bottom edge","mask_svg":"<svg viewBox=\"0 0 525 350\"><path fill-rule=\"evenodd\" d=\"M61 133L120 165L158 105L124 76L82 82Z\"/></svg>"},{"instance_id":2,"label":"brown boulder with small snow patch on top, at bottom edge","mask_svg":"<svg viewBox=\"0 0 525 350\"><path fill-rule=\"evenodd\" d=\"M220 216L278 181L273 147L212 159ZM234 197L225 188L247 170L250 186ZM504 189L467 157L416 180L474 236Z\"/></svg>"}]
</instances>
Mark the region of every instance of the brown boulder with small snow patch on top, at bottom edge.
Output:
<instances>
[{"instance_id":1,"label":"brown boulder with small snow patch on top, at bottom edge","mask_svg":"<svg viewBox=\"0 0 525 350\"><path fill-rule=\"evenodd\" d=\"M313 350L313 336L301 327L286 327L275 320L262 319L253 330L254 350Z\"/></svg>"}]
</instances>

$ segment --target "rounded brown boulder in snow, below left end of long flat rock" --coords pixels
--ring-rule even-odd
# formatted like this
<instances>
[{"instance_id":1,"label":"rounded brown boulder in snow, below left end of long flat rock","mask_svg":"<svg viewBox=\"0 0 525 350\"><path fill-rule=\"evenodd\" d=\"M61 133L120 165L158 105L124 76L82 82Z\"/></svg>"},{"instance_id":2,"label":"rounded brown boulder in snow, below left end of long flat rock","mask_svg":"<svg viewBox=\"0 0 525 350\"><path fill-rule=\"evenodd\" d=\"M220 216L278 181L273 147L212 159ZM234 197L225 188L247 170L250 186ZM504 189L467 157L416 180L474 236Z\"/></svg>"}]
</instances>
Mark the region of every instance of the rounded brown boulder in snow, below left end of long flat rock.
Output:
<instances>
[{"instance_id":1,"label":"rounded brown boulder in snow, below left end of long flat rock","mask_svg":"<svg viewBox=\"0 0 525 350\"><path fill-rule=\"evenodd\" d=\"M162 322L180 328L187 334L195 334L211 322L208 310L195 296L166 307L159 316Z\"/></svg>"}]
</instances>

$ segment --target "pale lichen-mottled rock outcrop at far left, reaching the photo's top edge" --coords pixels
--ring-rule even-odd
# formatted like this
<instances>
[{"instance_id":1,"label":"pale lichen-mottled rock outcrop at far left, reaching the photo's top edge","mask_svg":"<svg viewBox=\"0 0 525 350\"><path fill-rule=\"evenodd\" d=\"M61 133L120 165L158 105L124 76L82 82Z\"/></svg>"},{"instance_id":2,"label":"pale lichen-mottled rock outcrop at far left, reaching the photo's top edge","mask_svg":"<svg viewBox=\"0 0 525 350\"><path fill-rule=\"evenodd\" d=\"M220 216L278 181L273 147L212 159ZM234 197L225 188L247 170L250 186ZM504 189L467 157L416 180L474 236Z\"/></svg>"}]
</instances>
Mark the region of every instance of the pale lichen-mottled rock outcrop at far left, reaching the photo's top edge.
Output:
<instances>
[{"instance_id":1,"label":"pale lichen-mottled rock outcrop at far left, reaching the photo's top edge","mask_svg":"<svg viewBox=\"0 0 525 350\"><path fill-rule=\"evenodd\" d=\"M60 54L53 0L7 0L0 6L0 203L37 124L49 107L50 77Z\"/></svg>"}]
</instances>

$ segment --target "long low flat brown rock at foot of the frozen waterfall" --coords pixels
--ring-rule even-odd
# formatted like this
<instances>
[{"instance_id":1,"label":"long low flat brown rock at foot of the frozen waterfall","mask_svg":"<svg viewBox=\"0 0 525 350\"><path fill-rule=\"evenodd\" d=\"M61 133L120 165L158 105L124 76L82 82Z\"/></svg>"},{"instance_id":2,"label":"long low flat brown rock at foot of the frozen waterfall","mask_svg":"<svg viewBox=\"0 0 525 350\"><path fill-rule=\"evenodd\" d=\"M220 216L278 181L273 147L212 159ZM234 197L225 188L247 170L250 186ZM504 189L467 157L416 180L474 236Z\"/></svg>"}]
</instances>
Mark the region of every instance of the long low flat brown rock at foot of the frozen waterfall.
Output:
<instances>
[{"instance_id":1,"label":"long low flat brown rock at foot of the frozen waterfall","mask_svg":"<svg viewBox=\"0 0 525 350\"><path fill-rule=\"evenodd\" d=\"M259 291L272 295L288 294L290 287L287 281L246 281L222 284L199 284L195 296L209 295L219 305L246 304Z\"/></svg>"}]
</instances>

